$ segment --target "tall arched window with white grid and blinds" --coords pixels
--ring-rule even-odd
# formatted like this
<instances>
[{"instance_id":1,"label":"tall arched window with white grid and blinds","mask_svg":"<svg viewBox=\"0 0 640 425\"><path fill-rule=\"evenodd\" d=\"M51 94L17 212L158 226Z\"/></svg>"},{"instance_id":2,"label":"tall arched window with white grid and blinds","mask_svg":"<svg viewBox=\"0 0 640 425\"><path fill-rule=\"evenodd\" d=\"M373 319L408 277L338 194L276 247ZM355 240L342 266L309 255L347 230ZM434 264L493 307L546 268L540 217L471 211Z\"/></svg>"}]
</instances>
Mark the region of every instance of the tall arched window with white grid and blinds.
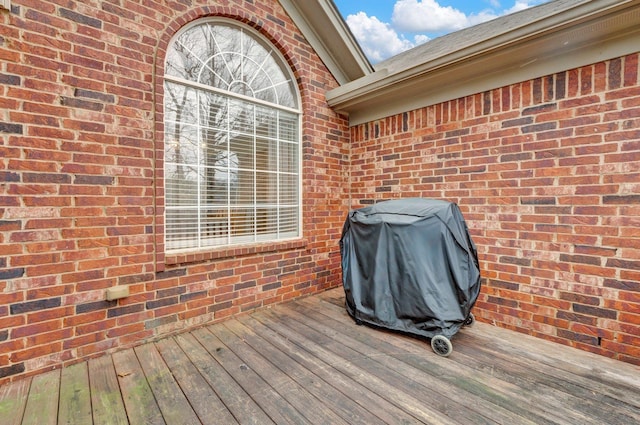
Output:
<instances>
[{"instance_id":1,"label":"tall arched window with white grid and blinds","mask_svg":"<svg viewBox=\"0 0 640 425\"><path fill-rule=\"evenodd\" d=\"M172 40L165 70L167 250L299 237L299 96L279 52L202 20Z\"/></svg>"}]
</instances>

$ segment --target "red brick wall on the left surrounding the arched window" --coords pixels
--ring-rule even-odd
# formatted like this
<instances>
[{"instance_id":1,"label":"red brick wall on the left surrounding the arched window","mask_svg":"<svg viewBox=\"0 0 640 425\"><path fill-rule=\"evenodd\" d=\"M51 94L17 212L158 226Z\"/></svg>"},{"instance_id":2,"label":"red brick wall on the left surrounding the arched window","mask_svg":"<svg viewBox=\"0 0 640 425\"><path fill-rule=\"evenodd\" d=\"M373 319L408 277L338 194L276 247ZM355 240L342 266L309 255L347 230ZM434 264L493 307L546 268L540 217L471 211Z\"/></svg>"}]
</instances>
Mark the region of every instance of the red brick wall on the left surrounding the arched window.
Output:
<instances>
[{"instance_id":1,"label":"red brick wall on the left surrounding the arched window","mask_svg":"<svg viewBox=\"0 0 640 425\"><path fill-rule=\"evenodd\" d=\"M340 283L349 130L276 1L12 0L0 12L0 383ZM224 6L219 6L223 4ZM286 57L303 118L304 238L166 256L171 37L237 19ZM131 295L106 301L105 290Z\"/></svg>"}]
</instances>

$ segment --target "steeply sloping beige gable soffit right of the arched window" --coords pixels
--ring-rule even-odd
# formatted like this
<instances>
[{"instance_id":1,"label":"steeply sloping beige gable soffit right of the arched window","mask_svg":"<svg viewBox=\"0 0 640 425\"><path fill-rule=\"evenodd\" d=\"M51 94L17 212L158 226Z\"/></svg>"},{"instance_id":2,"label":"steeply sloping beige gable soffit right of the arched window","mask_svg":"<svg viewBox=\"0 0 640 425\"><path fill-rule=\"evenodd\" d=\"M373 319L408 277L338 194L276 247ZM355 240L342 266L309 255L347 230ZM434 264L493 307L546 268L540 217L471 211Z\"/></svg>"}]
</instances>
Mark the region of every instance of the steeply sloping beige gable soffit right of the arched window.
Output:
<instances>
[{"instance_id":1,"label":"steeply sloping beige gable soffit right of the arched window","mask_svg":"<svg viewBox=\"0 0 640 425\"><path fill-rule=\"evenodd\" d=\"M339 84L373 72L332 0L279 0Z\"/></svg>"}]
</instances>

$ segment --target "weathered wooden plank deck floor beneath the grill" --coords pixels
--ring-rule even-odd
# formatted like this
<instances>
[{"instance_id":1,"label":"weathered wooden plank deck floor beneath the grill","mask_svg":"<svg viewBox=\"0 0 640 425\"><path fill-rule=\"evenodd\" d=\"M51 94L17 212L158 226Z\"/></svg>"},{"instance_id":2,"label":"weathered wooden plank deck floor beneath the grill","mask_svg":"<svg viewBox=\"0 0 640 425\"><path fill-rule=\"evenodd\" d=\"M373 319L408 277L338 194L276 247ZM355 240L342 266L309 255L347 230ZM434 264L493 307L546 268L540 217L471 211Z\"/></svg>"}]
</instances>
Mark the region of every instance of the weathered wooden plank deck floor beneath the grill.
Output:
<instances>
[{"instance_id":1,"label":"weathered wooden plank deck floor beneath the grill","mask_svg":"<svg viewBox=\"0 0 640 425\"><path fill-rule=\"evenodd\" d=\"M342 289L0 388L2 424L636 424L640 368L476 323L436 356Z\"/></svg>"}]
</instances>

